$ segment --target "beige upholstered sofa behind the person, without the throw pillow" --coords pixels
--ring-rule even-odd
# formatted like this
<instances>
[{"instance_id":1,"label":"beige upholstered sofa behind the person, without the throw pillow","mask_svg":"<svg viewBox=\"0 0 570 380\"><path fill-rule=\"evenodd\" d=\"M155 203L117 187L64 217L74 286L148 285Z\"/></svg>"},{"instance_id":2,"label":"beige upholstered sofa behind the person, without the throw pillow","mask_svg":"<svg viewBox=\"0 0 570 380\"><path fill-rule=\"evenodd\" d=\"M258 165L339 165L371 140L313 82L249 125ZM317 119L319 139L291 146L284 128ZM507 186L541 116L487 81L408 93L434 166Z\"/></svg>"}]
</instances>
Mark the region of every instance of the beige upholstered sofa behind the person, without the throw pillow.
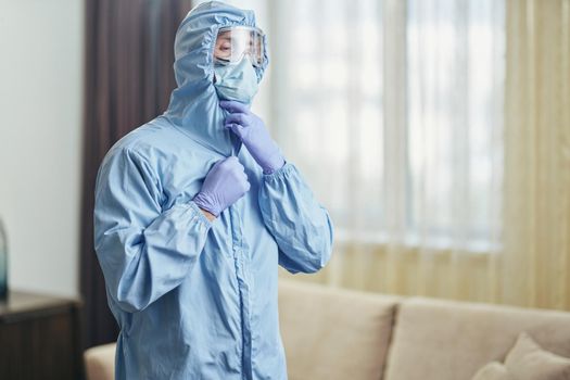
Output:
<instances>
[{"instance_id":1,"label":"beige upholstered sofa behind the person, without the throw pillow","mask_svg":"<svg viewBox=\"0 0 570 380\"><path fill-rule=\"evenodd\" d=\"M289 379L471 379L527 331L570 357L570 313L397 297L280 280ZM85 352L88 380L113 379L114 344Z\"/></svg>"}]
</instances>

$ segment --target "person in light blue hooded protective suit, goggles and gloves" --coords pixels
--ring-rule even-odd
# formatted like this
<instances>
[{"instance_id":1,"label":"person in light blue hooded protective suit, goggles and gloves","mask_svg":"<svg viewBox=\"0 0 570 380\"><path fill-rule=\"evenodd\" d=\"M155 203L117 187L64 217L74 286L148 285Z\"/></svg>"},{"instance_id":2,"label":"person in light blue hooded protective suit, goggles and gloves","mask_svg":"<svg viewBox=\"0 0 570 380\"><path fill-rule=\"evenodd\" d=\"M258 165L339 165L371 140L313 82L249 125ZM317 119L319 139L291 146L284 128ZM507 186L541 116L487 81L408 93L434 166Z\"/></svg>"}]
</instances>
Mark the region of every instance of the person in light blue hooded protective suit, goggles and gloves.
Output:
<instances>
[{"instance_id":1,"label":"person in light blue hooded protective suit, goggles and gloves","mask_svg":"<svg viewBox=\"0 0 570 380\"><path fill-rule=\"evenodd\" d=\"M252 11L194 8L164 114L97 176L94 245L121 379L287 379L278 265L315 273L333 226L251 101L267 66Z\"/></svg>"}]
</instances>

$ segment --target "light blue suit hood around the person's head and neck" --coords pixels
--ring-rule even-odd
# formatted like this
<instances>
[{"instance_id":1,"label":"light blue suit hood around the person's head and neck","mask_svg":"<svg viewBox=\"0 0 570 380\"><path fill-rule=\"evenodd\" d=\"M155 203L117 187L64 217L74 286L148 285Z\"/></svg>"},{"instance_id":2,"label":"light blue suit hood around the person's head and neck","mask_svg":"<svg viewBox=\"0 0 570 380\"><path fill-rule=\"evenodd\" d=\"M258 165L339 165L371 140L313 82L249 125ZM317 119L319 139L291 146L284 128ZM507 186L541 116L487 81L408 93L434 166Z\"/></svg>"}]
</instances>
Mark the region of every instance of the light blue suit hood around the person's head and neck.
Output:
<instances>
[{"instance_id":1,"label":"light blue suit hood around the person's head and neck","mask_svg":"<svg viewBox=\"0 0 570 380\"><path fill-rule=\"evenodd\" d=\"M255 27L254 12L211 1L188 13L176 33L174 73L177 88L164 113L197 142L225 156L237 155L241 142L224 127L227 112L220 109L214 87L213 52L218 29L237 25ZM262 80L268 64L265 38L263 43L265 60L256 68L257 81Z\"/></svg>"}]
</instances>

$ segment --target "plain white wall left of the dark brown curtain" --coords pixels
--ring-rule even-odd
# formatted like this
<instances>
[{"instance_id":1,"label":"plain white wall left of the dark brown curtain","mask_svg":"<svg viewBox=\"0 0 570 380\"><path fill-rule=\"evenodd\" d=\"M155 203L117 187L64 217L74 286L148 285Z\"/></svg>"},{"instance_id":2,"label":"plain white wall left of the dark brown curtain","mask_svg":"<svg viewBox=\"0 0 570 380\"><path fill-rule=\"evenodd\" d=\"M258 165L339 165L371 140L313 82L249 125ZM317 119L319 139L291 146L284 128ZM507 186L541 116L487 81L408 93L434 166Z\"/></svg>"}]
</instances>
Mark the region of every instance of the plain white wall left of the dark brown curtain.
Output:
<instances>
[{"instance_id":1,"label":"plain white wall left of the dark brown curtain","mask_svg":"<svg viewBox=\"0 0 570 380\"><path fill-rule=\"evenodd\" d=\"M84 10L0 0L0 217L13 289L77 295Z\"/></svg>"}]
</instances>

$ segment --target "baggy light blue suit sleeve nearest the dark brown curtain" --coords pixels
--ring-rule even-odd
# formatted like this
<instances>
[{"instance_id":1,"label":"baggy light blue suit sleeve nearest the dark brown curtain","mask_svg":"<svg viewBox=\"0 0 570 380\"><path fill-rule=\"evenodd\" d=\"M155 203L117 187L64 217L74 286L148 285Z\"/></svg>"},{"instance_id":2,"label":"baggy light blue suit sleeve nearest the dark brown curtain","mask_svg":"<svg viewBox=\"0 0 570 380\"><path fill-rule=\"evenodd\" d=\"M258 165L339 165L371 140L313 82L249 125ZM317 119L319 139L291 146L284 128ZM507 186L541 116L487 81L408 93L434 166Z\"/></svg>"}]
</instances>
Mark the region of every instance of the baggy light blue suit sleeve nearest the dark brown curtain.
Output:
<instances>
[{"instance_id":1,"label":"baggy light blue suit sleeve nearest the dark brown curtain","mask_svg":"<svg viewBox=\"0 0 570 380\"><path fill-rule=\"evenodd\" d=\"M202 252L211 223L193 202L161 206L155 170L136 152L115 151L101 165L94 246L107 293L129 313L179 286Z\"/></svg>"}]
</instances>

